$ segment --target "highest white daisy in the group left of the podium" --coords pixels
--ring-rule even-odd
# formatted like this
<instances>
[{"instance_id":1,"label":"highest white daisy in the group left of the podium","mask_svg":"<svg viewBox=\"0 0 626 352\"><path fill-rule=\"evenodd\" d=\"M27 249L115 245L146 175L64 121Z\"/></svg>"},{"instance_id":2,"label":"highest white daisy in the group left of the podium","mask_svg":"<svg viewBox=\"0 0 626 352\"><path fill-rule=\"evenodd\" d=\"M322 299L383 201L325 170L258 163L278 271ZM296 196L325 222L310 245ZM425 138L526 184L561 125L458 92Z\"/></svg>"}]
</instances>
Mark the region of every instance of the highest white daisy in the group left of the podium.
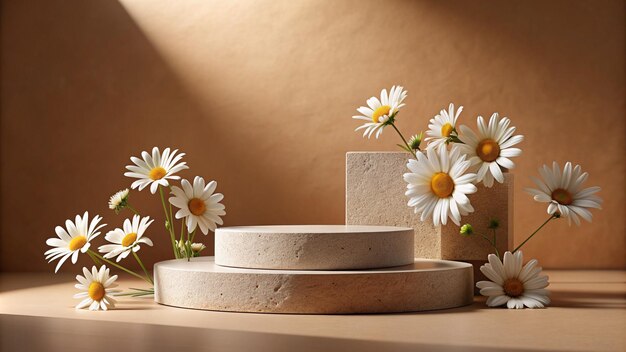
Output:
<instances>
[{"instance_id":1,"label":"highest white daisy in the group left of the podium","mask_svg":"<svg viewBox=\"0 0 626 352\"><path fill-rule=\"evenodd\" d=\"M180 176L174 174L189 167L186 162L180 162L185 153L176 155L177 152L178 149L170 153L170 148L165 148L163 155L161 155L159 148L154 147L152 148L152 155L145 151L141 152L143 160L134 156L131 157L130 160L135 165L126 166L129 172L125 172L124 176L138 178L138 180L133 182L130 188L139 188L141 191L150 185L150 192L154 194L159 185L169 186L167 180L179 180Z\"/></svg>"}]
</instances>

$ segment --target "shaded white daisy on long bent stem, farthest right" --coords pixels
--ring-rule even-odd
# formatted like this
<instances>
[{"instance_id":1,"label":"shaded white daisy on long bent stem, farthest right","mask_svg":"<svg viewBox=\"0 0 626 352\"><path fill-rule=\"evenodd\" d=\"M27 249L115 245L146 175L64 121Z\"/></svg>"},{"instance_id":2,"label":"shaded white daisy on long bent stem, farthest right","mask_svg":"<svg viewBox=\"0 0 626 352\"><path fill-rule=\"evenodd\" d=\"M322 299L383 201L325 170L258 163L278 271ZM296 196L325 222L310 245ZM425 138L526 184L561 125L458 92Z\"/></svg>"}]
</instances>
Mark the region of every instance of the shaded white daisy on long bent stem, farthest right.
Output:
<instances>
[{"instance_id":1,"label":"shaded white daisy on long bent stem, farthest right","mask_svg":"<svg viewBox=\"0 0 626 352\"><path fill-rule=\"evenodd\" d=\"M566 217L571 225L572 220L580 225L579 216L591 222L591 212L587 208L602 209L602 198L595 195L600 187L582 188L587 180L588 173L582 172L580 165L572 168L572 163L567 162L563 172L556 162L552 163L552 169L547 165L539 168L542 180L532 177L539 189L527 188L534 199L548 205L548 214L559 214Z\"/></svg>"}]
</instances>

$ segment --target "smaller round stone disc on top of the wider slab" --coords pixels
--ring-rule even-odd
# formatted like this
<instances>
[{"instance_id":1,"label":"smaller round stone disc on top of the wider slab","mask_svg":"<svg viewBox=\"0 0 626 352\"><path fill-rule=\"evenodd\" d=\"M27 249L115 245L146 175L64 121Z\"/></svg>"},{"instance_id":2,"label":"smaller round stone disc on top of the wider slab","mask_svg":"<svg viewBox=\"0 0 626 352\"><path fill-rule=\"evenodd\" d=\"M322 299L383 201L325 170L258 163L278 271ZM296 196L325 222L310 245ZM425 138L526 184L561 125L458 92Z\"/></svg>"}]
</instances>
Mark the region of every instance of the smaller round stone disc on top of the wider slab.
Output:
<instances>
[{"instance_id":1,"label":"smaller round stone disc on top of the wider slab","mask_svg":"<svg viewBox=\"0 0 626 352\"><path fill-rule=\"evenodd\" d=\"M215 231L218 265L257 269L372 269L413 263L413 229L283 225Z\"/></svg>"}]
</instances>

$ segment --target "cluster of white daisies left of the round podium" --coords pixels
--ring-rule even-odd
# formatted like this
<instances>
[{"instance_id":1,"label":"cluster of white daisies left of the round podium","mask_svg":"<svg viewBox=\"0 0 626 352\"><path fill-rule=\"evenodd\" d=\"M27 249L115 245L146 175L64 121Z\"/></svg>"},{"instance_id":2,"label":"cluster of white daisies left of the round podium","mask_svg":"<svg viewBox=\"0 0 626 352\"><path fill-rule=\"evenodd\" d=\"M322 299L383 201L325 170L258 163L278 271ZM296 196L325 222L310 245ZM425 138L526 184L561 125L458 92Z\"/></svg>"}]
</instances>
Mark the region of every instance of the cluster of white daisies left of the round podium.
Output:
<instances>
[{"instance_id":1,"label":"cluster of white daisies left of the round podium","mask_svg":"<svg viewBox=\"0 0 626 352\"><path fill-rule=\"evenodd\" d=\"M193 243L197 228L205 235L209 231L215 231L217 225L223 224L221 217L226 215L226 211L224 205L220 203L224 196L221 193L215 193L217 188L215 181L206 183L202 177L196 176L193 183L183 179L180 187L170 184L172 181L180 180L180 176L176 175L177 172L188 169L186 162L182 162L184 155L178 153L178 150L171 151L170 148L165 148L161 153L157 147L154 147L152 154L144 151L141 154L142 158L131 157L133 165L126 166L128 172L124 175L137 179L132 183L132 189L141 191L150 186L152 194L157 191L160 193L166 218L165 227L170 236L174 256L189 259L198 256L200 251L206 248L202 243ZM164 189L172 195L169 197L169 203L178 208L175 215L172 214L171 206L166 206ZM153 245L152 240L146 237L145 233L154 220L149 216L141 216L130 205L129 193L128 189L124 189L110 197L110 209L119 213L128 208L135 215L132 219L125 219L122 227L111 230L104 236L109 244L100 246L99 253L90 247L91 241L100 235L100 229L106 226L106 224L100 224L102 217L96 215L90 221L88 212L85 212L83 216L76 215L74 221L66 220L65 228L61 226L55 228L57 237L46 241L46 244L53 248L44 253L48 262L58 260L55 273L68 258L71 257L72 263L75 264L80 253L87 253L96 265L105 262L153 284L152 277L137 252L144 244ZM180 219L181 225L186 225L181 226L179 234L175 231L174 218ZM143 275L119 264L129 255L137 260L143 269ZM113 258L115 262L111 260ZM83 268L83 273L84 276L76 276L79 282L76 288L83 292L75 295L75 298L84 298L76 308L107 310L114 307L116 301L113 296L119 294L119 290L112 289L117 286L114 284L117 275L110 276L109 268L105 265L101 265L100 269L94 266L91 272ZM152 292L152 290L143 291L143 294ZM139 296L142 293L135 295Z\"/></svg>"}]
</instances>

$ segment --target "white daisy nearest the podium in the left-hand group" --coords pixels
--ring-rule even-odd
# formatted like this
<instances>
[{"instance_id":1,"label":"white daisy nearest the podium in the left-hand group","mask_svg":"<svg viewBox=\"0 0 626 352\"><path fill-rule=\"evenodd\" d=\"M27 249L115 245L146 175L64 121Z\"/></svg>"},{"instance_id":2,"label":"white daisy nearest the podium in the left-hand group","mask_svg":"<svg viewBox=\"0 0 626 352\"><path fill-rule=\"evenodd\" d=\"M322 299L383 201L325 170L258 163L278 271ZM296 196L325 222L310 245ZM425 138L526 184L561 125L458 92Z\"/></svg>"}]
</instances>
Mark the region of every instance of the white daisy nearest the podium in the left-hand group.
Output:
<instances>
[{"instance_id":1,"label":"white daisy nearest the podium in the left-hand group","mask_svg":"<svg viewBox=\"0 0 626 352\"><path fill-rule=\"evenodd\" d=\"M172 194L169 201L175 207L180 208L176 212L176 219L187 218L187 230L192 232L196 226L200 226L202 233L205 235L211 231L215 231L217 225L224 222L220 216L226 215L226 209L220 201L224 198L221 193L215 193L217 182L211 181L205 185L202 177L196 176L193 180L193 186L189 181L182 180L182 189L180 187L172 187Z\"/></svg>"}]
</instances>

